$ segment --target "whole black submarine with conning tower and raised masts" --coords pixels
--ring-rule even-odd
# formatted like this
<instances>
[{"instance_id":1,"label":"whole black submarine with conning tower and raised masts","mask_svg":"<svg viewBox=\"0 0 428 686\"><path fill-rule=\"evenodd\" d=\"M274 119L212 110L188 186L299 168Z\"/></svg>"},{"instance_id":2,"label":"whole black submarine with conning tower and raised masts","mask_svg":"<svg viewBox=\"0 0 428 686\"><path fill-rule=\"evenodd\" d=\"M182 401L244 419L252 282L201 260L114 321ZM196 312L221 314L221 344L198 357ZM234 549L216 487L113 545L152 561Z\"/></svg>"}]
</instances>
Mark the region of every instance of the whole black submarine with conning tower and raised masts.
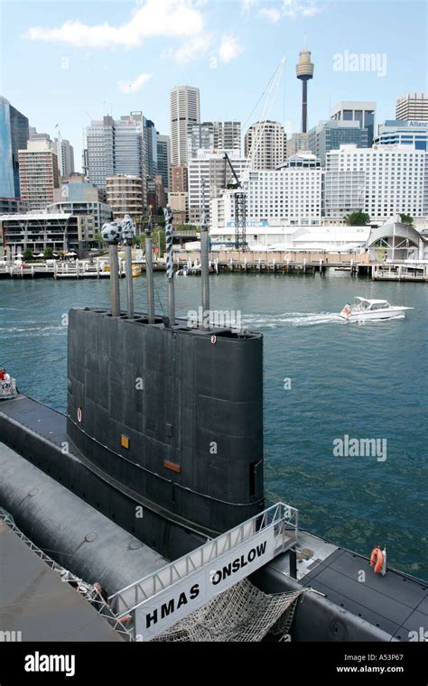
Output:
<instances>
[{"instance_id":1,"label":"whole black submarine with conning tower and raised masts","mask_svg":"<svg viewBox=\"0 0 428 686\"><path fill-rule=\"evenodd\" d=\"M82 579L101 581L111 598L257 521L269 505L263 335L175 316L169 208L168 313L156 315L151 231L149 222L141 313L134 309L132 222L103 227L111 307L69 313L66 415L18 392L0 402L0 506L42 550ZM126 310L119 242L126 251ZM203 312L208 243L202 217ZM296 527L292 544L248 578L269 596L302 595L288 627L292 641L415 640L428 626L426 583L387 568L385 551L378 554L370 564Z\"/></svg>"}]
</instances>

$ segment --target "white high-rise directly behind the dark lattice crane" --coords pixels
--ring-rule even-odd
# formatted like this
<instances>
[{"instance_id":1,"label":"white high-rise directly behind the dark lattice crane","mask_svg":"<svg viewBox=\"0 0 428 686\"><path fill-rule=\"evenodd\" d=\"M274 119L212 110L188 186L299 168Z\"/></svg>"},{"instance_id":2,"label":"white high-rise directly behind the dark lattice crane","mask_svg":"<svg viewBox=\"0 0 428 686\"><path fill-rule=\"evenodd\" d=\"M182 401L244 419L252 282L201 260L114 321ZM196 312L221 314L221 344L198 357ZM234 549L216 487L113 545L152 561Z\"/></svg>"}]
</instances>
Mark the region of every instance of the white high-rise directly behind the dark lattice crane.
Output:
<instances>
[{"instance_id":1,"label":"white high-rise directly behind the dark lattice crane","mask_svg":"<svg viewBox=\"0 0 428 686\"><path fill-rule=\"evenodd\" d=\"M240 177L247 164L238 150L228 153L233 168ZM230 168L225 162L224 151L200 150L189 160L189 219L200 222L202 209L202 181L205 181L205 211L209 221L209 201L219 198L230 181Z\"/></svg>"}]
</instances>

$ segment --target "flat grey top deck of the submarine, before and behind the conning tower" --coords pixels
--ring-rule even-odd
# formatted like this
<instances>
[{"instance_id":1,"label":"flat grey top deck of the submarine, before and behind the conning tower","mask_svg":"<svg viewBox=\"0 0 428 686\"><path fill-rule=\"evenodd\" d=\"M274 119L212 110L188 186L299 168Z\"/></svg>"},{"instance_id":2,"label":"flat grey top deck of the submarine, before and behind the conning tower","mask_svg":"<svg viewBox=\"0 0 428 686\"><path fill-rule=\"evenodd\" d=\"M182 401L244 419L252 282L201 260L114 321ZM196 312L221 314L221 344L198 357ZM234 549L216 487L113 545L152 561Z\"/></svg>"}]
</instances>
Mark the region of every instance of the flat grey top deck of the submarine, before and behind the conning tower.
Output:
<instances>
[{"instance_id":1,"label":"flat grey top deck of the submarine, before and behind the conning tower","mask_svg":"<svg viewBox=\"0 0 428 686\"><path fill-rule=\"evenodd\" d=\"M0 427L2 420L17 422L38 434L41 440L59 447L64 440L70 441L66 417L25 395L0 404ZM319 591L336 606L395 639L409 640L409 632L428 626L428 593L423 581L392 569L385 577L374 574L367 558L311 533L299 533L297 556L298 580L304 587ZM361 570L366 572L364 582L358 580ZM284 590L284 581L290 580L289 554L277 557L256 577L262 572L265 577L262 586L268 592Z\"/></svg>"}]
</instances>

